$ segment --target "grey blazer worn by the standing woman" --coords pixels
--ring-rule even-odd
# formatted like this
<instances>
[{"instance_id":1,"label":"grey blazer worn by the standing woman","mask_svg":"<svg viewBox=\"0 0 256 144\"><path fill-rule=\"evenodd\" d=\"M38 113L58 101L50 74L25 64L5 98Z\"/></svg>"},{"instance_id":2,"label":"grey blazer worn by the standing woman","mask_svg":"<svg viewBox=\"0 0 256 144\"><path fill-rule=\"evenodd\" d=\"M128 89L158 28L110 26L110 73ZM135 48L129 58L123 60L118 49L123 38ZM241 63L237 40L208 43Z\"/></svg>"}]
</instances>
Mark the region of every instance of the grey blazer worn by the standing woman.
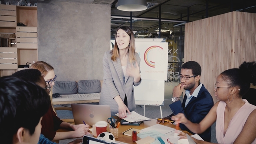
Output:
<instances>
[{"instance_id":1,"label":"grey blazer worn by the standing woman","mask_svg":"<svg viewBox=\"0 0 256 144\"><path fill-rule=\"evenodd\" d=\"M115 116L115 114L118 113L118 104L114 98L118 95L120 95L123 101L126 95L129 111L134 111L136 109L133 85L138 86L141 83L141 80L135 83L133 77L126 75L124 82L121 60L118 58L113 62L111 56L112 54L110 54L110 51L107 51L103 57L104 81L102 83L99 105L110 105L111 115ZM135 53L135 59L140 66L141 59L137 52ZM127 65L130 65L129 60ZM135 62L133 62L133 65L135 65Z\"/></svg>"}]
</instances>

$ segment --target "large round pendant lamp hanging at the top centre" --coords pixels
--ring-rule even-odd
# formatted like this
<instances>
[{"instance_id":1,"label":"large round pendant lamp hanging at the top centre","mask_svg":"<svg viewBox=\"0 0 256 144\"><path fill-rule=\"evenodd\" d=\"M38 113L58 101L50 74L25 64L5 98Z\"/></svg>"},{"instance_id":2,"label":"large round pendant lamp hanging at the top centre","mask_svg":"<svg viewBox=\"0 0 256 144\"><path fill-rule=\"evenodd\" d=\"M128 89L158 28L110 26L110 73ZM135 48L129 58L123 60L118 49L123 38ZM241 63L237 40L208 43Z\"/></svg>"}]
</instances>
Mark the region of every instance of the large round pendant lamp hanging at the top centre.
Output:
<instances>
[{"instance_id":1,"label":"large round pendant lamp hanging at the top centre","mask_svg":"<svg viewBox=\"0 0 256 144\"><path fill-rule=\"evenodd\" d=\"M122 11L141 11L147 10L146 0L118 0L117 9Z\"/></svg>"}]
</instances>

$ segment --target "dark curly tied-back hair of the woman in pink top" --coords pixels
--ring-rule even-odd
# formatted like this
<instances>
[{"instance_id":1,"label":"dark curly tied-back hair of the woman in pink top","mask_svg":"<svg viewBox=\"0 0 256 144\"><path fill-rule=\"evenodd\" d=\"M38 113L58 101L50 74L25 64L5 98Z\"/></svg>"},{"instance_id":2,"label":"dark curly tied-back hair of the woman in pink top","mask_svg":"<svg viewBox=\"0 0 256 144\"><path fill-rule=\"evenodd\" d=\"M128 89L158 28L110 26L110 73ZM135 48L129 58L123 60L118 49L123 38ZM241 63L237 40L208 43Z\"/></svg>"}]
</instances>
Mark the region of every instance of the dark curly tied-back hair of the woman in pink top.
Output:
<instances>
[{"instance_id":1,"label":"dark curly tied-back hair of the woman in pink top","mask_svg":"<svg viewBox=\"0 0 256 144\"><path fill-rule=\"evenodd\" d=\"M243 97L249 90L250 84L256 85L256 64L255 62L243 62L239 69L228 69L222 72L221 77L228 86L239 87L239 95Z\"/></svg>"}]
</instances>

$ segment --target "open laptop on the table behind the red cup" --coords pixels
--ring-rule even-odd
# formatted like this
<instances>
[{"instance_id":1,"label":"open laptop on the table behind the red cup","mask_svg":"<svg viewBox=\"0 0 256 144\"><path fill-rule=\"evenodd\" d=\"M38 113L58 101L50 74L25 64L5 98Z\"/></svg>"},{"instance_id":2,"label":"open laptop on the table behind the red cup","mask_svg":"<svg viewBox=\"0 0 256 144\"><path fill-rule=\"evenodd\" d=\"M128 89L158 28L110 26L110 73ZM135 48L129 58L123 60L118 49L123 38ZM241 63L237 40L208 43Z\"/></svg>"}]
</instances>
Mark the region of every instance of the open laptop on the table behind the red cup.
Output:
<instances>
[{"instance_id":1,"label":"open laptop on the table behind the red cup","mask_svg":"<svg viewBox=\"0 0 256 144\"><path fill-rule=\"evenodd\" d=\"M92 126L98 121L108 122L111 117L109 105L71 104L75 124L89 124Z\"/></svg>"}]
</instances>

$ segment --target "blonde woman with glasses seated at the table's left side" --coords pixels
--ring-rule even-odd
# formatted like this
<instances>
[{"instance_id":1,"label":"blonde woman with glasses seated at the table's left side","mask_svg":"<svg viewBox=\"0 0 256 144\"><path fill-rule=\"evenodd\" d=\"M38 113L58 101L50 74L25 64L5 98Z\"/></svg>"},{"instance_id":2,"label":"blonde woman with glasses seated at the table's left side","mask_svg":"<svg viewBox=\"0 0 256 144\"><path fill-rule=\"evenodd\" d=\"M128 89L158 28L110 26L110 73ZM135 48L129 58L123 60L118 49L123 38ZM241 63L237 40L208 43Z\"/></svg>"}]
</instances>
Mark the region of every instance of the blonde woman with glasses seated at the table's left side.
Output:
<instances>
[{"instance_id":1,"label":"blonde woman with glasses seated at the table's left side","mask_svg":"<svg viewBox=\"0 0 256 144\"><path fill-rule=\"evenodd\" d=\"M51 65L43 61L37 61L30 66L30 69L38 69L41 72L41 75L47 84L47 88L54 85L54 81L56 80L57 76L54 74L53 67ZM82 137L88 132L90 127L87 124L69 124L60 120L53 111L52 106L50 106L46 115L43 116L41 124L41 134L51 141ZM56 132L59 128L72 129L73 131Z\"/></svg>"}]
</instances>

